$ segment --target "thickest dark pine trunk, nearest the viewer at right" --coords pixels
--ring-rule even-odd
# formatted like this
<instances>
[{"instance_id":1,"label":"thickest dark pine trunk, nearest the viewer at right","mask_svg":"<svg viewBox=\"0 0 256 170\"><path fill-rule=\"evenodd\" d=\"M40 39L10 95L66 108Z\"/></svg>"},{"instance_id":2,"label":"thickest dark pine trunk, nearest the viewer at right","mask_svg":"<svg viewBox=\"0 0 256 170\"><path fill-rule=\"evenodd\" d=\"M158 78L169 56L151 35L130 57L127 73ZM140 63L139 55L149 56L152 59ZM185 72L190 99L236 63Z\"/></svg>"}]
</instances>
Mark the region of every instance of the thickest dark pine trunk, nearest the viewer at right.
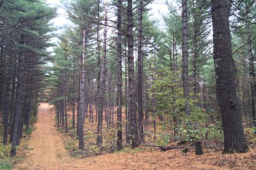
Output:
<instances>
[{"instance_id":1,"label":"thickest dark pine trunk, nearest the viewer at right","mask_svg":"<svg viewBox=\"0 0 256 170\"><path fill-rule=\"evenodd\" d=\"M224 130L223 153L244 153L248 151L248 147L235 89L229 8L226 0L212 0L212 26L216 88Z\"/></svg>"}]
</instances>

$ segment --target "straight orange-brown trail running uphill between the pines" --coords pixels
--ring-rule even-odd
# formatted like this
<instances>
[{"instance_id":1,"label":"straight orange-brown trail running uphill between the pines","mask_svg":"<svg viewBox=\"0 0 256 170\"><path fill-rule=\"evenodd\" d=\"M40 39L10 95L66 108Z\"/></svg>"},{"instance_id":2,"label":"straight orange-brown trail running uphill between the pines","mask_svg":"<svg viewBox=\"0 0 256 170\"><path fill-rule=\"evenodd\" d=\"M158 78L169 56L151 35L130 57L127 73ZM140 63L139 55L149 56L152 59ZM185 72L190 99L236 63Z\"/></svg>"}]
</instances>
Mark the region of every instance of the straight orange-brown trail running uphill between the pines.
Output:
<instances>
[{"instance_id":1,"label":"straight orange-brown trail running uphill between the pines","mask_svg":"<svg viewBox=\"0 0 256 170\"><path fill-rule=\"evenodd\" d=\"M26 160L16 166L18 169L50 170L72 160L65 158L67 153L54 126L54 113L52 105L41 103L39 106L35 130L28 144L33 150L26 153Z\"/></svg>"}]
</instances>

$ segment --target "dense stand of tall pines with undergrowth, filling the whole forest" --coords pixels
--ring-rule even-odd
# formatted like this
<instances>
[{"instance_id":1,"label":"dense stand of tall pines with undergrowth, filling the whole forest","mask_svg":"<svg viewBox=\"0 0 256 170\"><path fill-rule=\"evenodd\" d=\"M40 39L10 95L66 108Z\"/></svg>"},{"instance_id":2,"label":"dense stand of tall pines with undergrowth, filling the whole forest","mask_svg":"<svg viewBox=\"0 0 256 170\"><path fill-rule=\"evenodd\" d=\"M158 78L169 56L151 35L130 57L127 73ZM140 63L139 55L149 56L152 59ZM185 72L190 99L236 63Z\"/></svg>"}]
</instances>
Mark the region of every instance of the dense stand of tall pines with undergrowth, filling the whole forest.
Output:
<instances>
[{"instance_id":1,"label":"dense stand of tall pines with undergrowth, filling the whole forest","mask_svg":"<svg viewBox=\"0 0 256 170\"><path fill-rule=\"evenodd\" d=\"M255 146L255 0L170 0L162 20L151 0L62 3L72 24L55 34L57 8L44 0L0 1L1 139L11 156L40 102L84 152ZM84 126L95 122L87 144Z\"/></svg>"}]
</instances>

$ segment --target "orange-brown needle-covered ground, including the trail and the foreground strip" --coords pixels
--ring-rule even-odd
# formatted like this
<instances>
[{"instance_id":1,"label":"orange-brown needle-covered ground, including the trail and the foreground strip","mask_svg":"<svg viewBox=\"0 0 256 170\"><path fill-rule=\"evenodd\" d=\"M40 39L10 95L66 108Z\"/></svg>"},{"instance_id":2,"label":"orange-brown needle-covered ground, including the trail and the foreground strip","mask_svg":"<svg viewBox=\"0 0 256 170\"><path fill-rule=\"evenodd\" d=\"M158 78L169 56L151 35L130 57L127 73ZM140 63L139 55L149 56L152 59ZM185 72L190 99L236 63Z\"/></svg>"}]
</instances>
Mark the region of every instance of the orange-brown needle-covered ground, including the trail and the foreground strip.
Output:
<instances>
[{"instance_id":1,"label":"orange-brown needle-covered ground, including the trail and the foreground strip","mask_svg":"<svg viewBox=\"0 0 256 170\"><path fill-rule=\"evenodd\" d=\"M24 160L15 164L15 170L256 170L256 150L252 148L248 153L226 155L209 149L195 156L194 150L162 152L140 147L83 159L71 157L55 127L55 109L47 103L41 103L34 130L26 140L27 149L17 153L25 155Z\"/></svg>"}]
</instances>

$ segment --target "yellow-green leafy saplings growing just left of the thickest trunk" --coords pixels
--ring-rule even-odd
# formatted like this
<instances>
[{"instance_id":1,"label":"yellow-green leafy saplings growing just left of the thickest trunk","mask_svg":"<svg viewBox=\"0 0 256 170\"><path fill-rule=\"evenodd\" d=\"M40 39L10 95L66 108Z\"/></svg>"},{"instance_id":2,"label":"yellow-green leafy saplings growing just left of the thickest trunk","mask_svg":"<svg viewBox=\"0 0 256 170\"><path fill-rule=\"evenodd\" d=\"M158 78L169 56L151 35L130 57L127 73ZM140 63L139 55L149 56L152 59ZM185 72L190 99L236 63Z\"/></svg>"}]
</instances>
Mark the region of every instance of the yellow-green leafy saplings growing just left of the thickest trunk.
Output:
<instances>
[{"instance_id":1,"label":"yellow-green leafy saplings growing just left of the thickest trunk","mask_svg":"<svg viewBox=\"0 0 256 170\"><path fill-rule=\"evenodd\" d=\"M176 134L177 136L174 139L179 140L200 140L205 137L206 133L209 133L210 139L222 139L220 126L210 125L206 127L205 122L209 119L209 114L196 105L197 100L189 99L191 114L185 115L185 99L182 97L183 88L177 73L172 72L170 68L160 69L157 73L156 80L153 81L151 87L151 91L153 91L151 94L157 99L157 112L155 114L167 118L166 121L161 122L160 129L157 130L157 143L161 145L168 144L171 135L167 133L163 135L166 128L176 128L180 135ZM176 127L169 127L169 122L174 116L179 123Z\"/></svg>"}]
</instances>

